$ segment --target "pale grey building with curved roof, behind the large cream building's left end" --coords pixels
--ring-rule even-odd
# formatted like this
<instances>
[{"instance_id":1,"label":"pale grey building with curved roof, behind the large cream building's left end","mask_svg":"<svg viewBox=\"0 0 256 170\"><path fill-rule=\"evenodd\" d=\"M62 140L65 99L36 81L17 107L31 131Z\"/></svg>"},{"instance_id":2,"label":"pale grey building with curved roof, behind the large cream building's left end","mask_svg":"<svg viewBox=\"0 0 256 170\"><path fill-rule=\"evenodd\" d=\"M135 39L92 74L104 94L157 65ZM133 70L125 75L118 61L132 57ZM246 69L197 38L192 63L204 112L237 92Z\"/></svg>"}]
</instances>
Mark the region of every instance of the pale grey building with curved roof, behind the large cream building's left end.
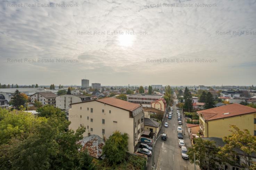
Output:
<instances>
[{"instance_id":1,"label":"pale grey building with curved roof, behind the large cream building's left end","mask_svg":"<svg viewBox=\"0 0 256 170\"><path fill-rule=\"evenodd\" d=\"M69 105L83 101L91 100L91 96L84 95L60 95L56 97L56 107L60 109L69 109Z\"/></svg>"}]
</instances>

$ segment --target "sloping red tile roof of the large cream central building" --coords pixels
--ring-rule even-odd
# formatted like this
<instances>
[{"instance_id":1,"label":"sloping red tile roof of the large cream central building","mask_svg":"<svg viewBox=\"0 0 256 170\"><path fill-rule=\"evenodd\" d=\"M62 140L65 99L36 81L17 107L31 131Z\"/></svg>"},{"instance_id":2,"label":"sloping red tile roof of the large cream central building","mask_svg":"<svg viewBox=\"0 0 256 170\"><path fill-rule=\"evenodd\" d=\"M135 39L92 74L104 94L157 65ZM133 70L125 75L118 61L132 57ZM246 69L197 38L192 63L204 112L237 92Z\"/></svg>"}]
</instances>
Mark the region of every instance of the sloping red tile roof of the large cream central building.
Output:
<instances>
[{"instance_id":1,"label":"sloping red tile roof of the large cream central building","mask_svg":"<svg viewBox=\"0 0 256 170\"><path fill-rule=\"evenodd\" d=\"M141 107L141 105L139 105L139 104L135 104L135 103L131 103L131 102L128 102L128 101L116 99L116 98L113 98L113 97L106 97L106 98L103 98L103 99L98 99L96 101L106 103L108 105L115 106L115 107L125 109L125 110L129 110L129 111L133 111L133 110Z\"/></svg>"}]
</instances>

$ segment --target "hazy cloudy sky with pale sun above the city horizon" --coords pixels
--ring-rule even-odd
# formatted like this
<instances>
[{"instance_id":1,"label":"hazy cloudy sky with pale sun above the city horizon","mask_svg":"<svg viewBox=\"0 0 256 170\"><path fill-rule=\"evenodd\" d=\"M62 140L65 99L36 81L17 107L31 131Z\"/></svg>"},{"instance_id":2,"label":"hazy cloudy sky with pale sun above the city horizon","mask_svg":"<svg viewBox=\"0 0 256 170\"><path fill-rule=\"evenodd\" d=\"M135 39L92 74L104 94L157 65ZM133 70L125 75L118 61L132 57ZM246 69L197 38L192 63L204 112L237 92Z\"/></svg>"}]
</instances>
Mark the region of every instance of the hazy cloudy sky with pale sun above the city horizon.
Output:
<instances>
[{"instance_id":1,"label":"hazy cloudy sky with pale sun above the city horizon","mask_svg":"<svg viewBox=\"0 0 256 170\"><path fill-rule=\"evenodd\" d=\"M2 84L256 84L256 0L4 0L0 72Z\"/></svg>"}]
</instances>

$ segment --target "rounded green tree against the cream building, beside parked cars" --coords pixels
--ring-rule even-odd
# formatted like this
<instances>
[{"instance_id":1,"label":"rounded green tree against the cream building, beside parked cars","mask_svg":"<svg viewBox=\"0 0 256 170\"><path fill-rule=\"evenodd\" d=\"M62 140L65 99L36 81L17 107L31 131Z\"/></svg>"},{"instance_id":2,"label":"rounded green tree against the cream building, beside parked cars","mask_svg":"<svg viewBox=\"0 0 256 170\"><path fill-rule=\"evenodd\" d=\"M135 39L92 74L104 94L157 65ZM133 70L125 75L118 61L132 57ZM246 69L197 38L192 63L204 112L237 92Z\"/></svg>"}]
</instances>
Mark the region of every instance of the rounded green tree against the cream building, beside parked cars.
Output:
<instances>
[{"instance_id":1,"label":"rounded green tree against the cream building, beside parked cars","mask_svg":"<svg viewBox=\"0 0 256 170\"><path fill-rule=\"evenodd\" d=\"M115 131L105 142L103 146L103 154L110 164L117 164L124 160L125 154L128 151L128 134L121 134Z\"/></svg>"}]
</instances>

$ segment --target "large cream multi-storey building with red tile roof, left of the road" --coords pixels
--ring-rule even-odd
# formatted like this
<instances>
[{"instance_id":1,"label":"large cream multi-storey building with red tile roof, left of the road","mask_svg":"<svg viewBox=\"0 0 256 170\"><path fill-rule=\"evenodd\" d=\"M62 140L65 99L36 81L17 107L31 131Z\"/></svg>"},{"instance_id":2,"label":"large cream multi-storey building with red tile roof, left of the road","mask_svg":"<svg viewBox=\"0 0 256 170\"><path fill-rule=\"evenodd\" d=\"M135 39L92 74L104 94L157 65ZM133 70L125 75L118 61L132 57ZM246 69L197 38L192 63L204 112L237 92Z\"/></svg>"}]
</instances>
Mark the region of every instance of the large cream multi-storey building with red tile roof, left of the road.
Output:
<instances>
[{"instance_id":1,"label":"large cream multi-storey building with red tile roof, left of the road","mask_svg":"<svg viewBox=\"0 0 256 170\"><path fill-rule=\"evenodd\" d=\"M81 125L86 127L84 137L98 135L107 139L115 131L127 133L129 153L134 153L144 132L142 106L111 97L71 104L69 121L69 129L74 131Z\"/></svg>"}]
</instances>

